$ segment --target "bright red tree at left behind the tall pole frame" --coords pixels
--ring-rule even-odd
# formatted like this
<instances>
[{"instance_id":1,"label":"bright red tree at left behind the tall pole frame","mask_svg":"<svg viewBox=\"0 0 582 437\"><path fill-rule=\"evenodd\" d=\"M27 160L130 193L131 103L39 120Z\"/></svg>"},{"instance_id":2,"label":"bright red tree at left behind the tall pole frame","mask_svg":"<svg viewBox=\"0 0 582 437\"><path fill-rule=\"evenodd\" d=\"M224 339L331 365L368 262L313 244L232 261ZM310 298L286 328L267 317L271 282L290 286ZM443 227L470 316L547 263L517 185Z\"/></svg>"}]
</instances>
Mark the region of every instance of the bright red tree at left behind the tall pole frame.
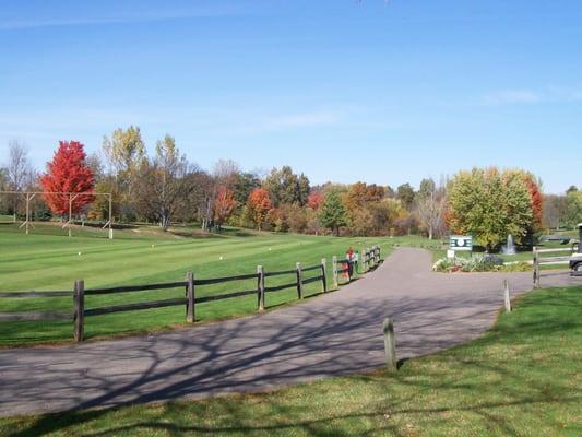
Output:
<instances>
[{"instance_id":1,"label":"bright red tree at left behind the tall pole frame","mask_svg":"<svg viewBox=\"0 0 582 437\"><path fill-rule=\"evenodd\" d=\"M44 191L72 193L72 212L76 213L87 203L93 202L95 196L74 193L92 192L95 177L87 166L83 144L79 141L60 141L59 147L47 163L47 173L40 177ZM55 214L69 213L68 194L45 194L45 201Z\"/></svg>"}]
</instances>

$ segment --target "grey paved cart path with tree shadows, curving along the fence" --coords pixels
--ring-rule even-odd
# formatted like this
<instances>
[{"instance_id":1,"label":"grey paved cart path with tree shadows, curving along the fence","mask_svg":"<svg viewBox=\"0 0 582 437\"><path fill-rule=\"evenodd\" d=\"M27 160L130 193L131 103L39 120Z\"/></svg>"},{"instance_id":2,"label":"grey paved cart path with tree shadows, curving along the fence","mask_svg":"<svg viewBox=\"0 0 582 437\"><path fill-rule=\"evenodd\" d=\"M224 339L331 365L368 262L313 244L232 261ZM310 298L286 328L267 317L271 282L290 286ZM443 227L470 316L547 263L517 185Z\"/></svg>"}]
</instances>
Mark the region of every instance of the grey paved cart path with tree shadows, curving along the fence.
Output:
<instances>
[{"instance_id":1,"label":"grey paved cart path with tree shadows, curving along the fence","mask_svg":"<svg viewBox=\"0 0 582 437\"><path fill-rule=\"evenodd\" d=\"M340 292L262 316L152 336L0 351L0 415L109 408L262 391L383 364L382 321L395 319L399 357L459 344L487 330L531 290L530 273L438 274L431 255L399 249ZM544 285L566 285L559 274ZM580 283L580 280L578 280Z\"/></svg>"}]
</instances>

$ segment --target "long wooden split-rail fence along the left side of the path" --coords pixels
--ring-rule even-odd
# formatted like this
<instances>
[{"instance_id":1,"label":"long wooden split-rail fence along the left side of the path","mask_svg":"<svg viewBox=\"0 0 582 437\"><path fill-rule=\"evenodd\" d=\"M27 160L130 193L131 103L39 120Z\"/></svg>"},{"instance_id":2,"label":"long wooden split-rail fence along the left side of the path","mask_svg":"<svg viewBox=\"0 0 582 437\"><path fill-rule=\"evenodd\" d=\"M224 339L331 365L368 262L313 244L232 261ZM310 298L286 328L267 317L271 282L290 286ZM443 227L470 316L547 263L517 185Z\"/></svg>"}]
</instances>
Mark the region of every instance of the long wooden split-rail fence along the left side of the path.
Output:
<instances>
[{"instance_id":1,"label":"long wooden split-rail fence along the left side of the path","mask_svg":"<svg viewBox=\"0 0 582 437\"><path fill-rule=\"evenodd\" d=\"M380 248L375 246L370 249L366 249L361 259L361 273L376 268L381 261ZM340 264L344 264L343 269L338 269ZM340 274L347 273L352 269L349 268L351 261L347 259L338 260L337 257L333 257L332 262L332 279L334 288L340 285ZM321 282L322 293L329 291L328 287L328 272L326 260L322 259L320 264L302 267L298 262L295 269L282 270L269 272L263 269L262 265L257 268L257 273L241 274L237 276L214 277L214 279L195 279L192 272L186 274L185 281L178 282L165 282L157 284L144 284L144 285L128 285L116 286L105 288L87 288L85 290L85 282L82 280L74 282L73 291L59 291L59 292L10 292L0 293L0 298L50 298L50 297L73 297L73 314L70 312L56 312L56 311L28 311L28 312L0 312L0 322L2 321L38 321L38 320L72 320L74 330L73 338L76 342L82 342L85 330L85 318L92 316L103 316L115 312L123 311L136 311L143 309L165 308L173 306L186 306L186 321L193 323L195 321L195 307L197 305L230 299L235 297L257 295L257 310L259 312L265 309L265 295L269 293L276 293L289 288L297 288L297 298L304 298L304 287L307 284L314 282ZM304 275L308 272L318 272L316 276L306 279ZM266 279L274 276L293 275L294 281L281 285L266 286ZM244 290L233 293L222 293L210 296L197 296L199 287L222 284L236 281L256 280L257 287L252 290ZM352 276L347 276L349 282ZM168 291L176 288L185 288L185 297L177 297L154 302L140 302L133 304L115 305L109 307L99 308L85 308L85 296L103 296L103 295L118 295L121 293L134 293L134 292L152 292L152 291Z\"/></svg>"}]
</instances>

